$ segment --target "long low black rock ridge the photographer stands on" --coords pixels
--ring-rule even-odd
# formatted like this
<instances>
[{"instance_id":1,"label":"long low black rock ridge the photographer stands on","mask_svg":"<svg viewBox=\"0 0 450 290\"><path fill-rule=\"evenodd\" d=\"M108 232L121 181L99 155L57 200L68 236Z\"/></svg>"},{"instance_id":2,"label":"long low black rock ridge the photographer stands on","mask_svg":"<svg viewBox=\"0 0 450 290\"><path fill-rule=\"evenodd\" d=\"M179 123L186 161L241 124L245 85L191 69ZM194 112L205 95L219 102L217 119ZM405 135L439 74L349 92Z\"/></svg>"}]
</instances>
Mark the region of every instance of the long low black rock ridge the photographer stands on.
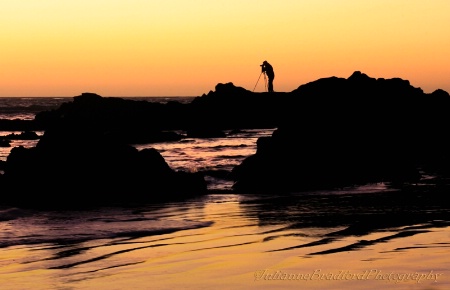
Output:
<instances>
[{"instance_id":1,"label":"long low black rock ridge the photographer stands on","mask_svg":"<svg viewBox=\"0 0 450 290\"><path fill-rule=\"evenodd\" d=\"M219 83L215 91L188 104L83 93L56 110L38 113L34 123L39 128L51 127L61 120L74 124L96 123L118 137L126 135L138 140L146 138L149 131L157 135L167 130L184 130L189 137L221 137L221 131L226 129L274 128L288 98L287 93L253 93L232 83Z\"/></svg>"}]
</instances>

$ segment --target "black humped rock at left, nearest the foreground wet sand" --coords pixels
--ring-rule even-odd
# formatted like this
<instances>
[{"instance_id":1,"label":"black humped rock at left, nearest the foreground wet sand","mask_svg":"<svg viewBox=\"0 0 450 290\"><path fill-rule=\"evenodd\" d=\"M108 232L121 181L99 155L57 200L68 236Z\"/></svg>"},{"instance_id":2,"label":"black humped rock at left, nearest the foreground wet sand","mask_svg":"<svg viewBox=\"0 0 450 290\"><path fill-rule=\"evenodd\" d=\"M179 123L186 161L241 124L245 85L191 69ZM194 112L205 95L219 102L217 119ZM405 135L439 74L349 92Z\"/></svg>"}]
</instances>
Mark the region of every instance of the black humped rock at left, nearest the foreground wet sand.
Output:
<instances>
[{"instance_id":1,"label":"black humped rock at left, nearest the foreground wet sand","mask_svg":"<svg viewBox=\"0 0 450 290\"><path fill-rule=\"evenodd\" d=\"M138 151L101 123L60 122L36 147L16 147L4 164L2 204L95 206L176 199L206 192L198 173L176 172L155 149Z\"/></svg>"}]
</instances>

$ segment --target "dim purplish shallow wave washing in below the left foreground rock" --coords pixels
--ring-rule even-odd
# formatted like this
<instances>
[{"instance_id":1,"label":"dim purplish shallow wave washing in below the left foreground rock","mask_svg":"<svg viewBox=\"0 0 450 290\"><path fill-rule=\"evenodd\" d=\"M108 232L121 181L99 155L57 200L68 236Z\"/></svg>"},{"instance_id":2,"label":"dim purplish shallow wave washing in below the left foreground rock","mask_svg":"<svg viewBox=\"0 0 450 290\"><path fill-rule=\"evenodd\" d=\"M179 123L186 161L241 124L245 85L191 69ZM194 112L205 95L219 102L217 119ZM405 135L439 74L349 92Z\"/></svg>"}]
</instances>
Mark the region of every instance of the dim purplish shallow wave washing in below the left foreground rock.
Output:
<instances>
[{"instance_id":1,"label":"dim purplish shallow wave washing in below the left foreground rock","mask_svg":"<svg viewBox=\"0 0 450 290\"><path fill-rule=\"evenodd\" d=\"M0 248L15 245L68 245L101 239L133 239L208 227L210 221L135 216L110 210L0 211Z\"/></svg>"}]
</instances>

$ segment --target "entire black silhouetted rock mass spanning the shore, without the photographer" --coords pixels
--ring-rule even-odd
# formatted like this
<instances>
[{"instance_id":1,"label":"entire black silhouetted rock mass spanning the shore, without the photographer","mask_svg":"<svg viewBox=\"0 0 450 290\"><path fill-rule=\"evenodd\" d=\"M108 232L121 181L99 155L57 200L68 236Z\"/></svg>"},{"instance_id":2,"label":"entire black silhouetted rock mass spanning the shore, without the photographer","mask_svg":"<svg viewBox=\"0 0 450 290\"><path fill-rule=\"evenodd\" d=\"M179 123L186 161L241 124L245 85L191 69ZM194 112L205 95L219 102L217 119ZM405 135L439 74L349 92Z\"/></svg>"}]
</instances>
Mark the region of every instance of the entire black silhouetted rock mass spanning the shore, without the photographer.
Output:
<instances>
[{"instance_id":1,"label":"entire black silhouetted rock mass spanning the shore, without the photographer","mask_svg":"<svg viewBox=\"0 0 450 290\"><path fill-rule=\"evenodd\" d=\"M1 199L70 204L203 194L201 174L174 172L155 150L130 144L246 128L277 129L231 172L237 192L415 183L450 173L449 105L443 90L426 94L407 80L359 71L292 92L253 93L219 83L188 104L83 93L27 125L17 123L45 134L35 148L11 151L2 166Z\"/></svg>"}]
</instances>

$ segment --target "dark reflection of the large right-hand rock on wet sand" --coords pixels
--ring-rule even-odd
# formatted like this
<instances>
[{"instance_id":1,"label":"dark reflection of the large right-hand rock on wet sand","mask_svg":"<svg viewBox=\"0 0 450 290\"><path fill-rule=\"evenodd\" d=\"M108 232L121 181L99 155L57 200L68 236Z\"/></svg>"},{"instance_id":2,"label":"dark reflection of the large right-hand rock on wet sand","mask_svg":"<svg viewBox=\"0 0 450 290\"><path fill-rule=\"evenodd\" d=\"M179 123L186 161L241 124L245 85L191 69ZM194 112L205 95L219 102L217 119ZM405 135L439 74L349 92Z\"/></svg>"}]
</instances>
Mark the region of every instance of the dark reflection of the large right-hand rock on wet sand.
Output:
<instances>
[{"instance_id":1,"label":"dark reflection of the large right-hand rock on wet sand","mask_svg":"<svg viewBox=\"0 0 450 290\"><path fill-rule=\"evenodd\" d=\"M381 192L330 191L322 194L289 194L246 200L260 226L280 225L265 240L309 237L271 251L328 245L308 254L329 254L358 250L391 239L426 233L431 228L450 226L450 204L441 191L386 190ZM319 230L318 230L319 229ZM358 237L345 246L336 241Z\"/></svg>"}]
</instances>

